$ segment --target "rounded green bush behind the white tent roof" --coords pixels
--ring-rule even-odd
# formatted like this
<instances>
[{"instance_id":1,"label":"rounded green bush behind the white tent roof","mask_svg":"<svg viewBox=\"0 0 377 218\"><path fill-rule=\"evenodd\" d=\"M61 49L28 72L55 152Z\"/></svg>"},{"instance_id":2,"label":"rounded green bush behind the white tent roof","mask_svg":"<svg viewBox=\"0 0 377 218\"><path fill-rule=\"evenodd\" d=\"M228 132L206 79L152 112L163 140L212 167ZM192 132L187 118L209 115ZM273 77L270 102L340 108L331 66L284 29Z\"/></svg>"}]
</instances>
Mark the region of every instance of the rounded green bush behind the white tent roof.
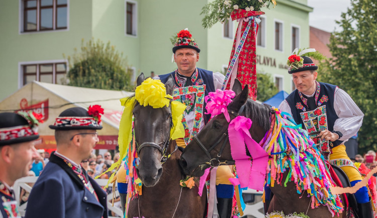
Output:
<instances>
[{"instance_id":1,"label":"rounded green bush behind the white tent roof","mask_svg":"<svg viewBox=\"0 0 377 218\"><path fill-rule=\"evenodd\" d=\"M81 51L68 56L68 85L112 90L131 90L131 69L122 53L108 42L81 42Z\"/></svg>"}]
</instances>

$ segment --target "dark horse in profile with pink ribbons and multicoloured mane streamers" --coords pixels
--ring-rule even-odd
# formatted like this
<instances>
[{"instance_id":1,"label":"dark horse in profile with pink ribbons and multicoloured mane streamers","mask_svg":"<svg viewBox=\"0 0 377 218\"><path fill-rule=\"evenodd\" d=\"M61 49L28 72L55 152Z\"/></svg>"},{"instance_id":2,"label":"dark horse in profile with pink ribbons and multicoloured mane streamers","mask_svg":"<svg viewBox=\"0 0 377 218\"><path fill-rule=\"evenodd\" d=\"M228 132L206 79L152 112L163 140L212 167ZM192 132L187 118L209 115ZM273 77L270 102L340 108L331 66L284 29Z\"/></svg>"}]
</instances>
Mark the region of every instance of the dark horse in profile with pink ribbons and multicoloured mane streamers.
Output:
<instances>
[{"instance_id":1,"label":"dark horse in profile with pink ribbons and multicoloured mane streamers","mask_svg":"<svg viewBox=\"0 0 377 218\"><path fill-rule=\"evenodd\" d=\"M250 135L254 141L260 142L270 129L270 114L273 113L273 110L267 105L262 105L252 99L248 99L247 85L242 89L241 83L238 80L235 80L232 89L235 91L236 96L227 106L230 119L237 117L238 113L241 116L250 118L252 120L252 125L249 129ZM225 140L219 140L222 135L226 135L228 132L228 126L229 123L224 114L217 115L202 129L197 138L186 146L179 161L185 174L202 176L204 170L211 167L211 165L235 164L231 156L229 140L225 141L228 138L225 137ZM247 149L246 151L246 154L250 155ZM220 159L216 158L219 156L221 156ZM288 170L283 174L282 181L285 181L287 174ZM328 207L325 205L319 205L311 209L310 205L312 202L310 197L306 197L308 195L307 191L298 194L296 184L293 181L289 181L286 187L275 184L270 188L273 197L268 207L268 213L283 211L284 214L288 215L294 212L303 212L309 217L332 217ZM340 197L342 202L345 202L343 196ZM346 212L344 211L339 213L340 217L346 217Z\"/></svg>"}]
</instances>

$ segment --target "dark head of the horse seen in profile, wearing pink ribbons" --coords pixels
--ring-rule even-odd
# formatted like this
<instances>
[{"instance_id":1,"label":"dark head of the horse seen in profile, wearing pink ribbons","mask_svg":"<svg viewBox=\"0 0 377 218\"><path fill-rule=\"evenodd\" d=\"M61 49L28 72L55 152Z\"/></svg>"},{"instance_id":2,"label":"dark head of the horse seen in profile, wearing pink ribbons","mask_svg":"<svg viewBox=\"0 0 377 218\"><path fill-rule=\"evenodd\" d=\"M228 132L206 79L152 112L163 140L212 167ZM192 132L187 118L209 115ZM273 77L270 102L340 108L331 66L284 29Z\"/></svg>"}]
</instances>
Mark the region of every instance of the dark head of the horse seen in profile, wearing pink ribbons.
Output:
<instances>
[{"instance_id":1,"label":"dark head of the horse seen in profile, wearing pink ribbons","mask_svg":"<svg viewBox=\"0 0 377 218\"><path fill-rule=\"evenodd\" d=\"M230 119L234 119L239 113L255 113L254 111L250 111L250 108L242 107L246 102L248 104L258 104L248 99L248 86L246 85L242 89L241 83L236 79L232 89L236 93L236 96L227 107ZM256 105L258 108L261 106L266 107L264 105ZM269 109L266 107L265 110L263 108L263 111L265 111L264 114L269 118ZM260 116L264 115L260 114ZM261 140L266 132L266 128L261 128L258 123L262 122L255 122L255 124L253 122L250 128L251 136L255 140ZM266 126L268 124L264 124L264 127ZM228 165L234 164L228 139L228 127L229 122L224 114L217 115L186 146L179 160L186 175L201 176L206 168L217 166L220 162Z\"/></svg>"}]
</instances>

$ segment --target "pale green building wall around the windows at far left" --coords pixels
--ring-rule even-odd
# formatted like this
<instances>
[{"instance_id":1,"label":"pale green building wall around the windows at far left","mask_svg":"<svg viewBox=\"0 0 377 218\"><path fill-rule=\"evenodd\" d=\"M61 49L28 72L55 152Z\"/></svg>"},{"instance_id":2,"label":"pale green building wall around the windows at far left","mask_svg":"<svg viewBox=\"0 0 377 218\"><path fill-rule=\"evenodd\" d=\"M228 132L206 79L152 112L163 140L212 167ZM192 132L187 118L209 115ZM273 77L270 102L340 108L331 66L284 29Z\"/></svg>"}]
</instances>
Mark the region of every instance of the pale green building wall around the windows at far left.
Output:
<instances>
[{"instance_id":1,"label":"pale green building wall around the windows at far left","mask_svg":"<svg viewBox=\"0 0 377 218\"><path fill-rule=\"evenodd\" d=\"M20 88L19 63L64 60L91 38L91 1L69 1L67 30L20 33L20 0L0 2L0 100Z\"/></svg>"}]
</instances>

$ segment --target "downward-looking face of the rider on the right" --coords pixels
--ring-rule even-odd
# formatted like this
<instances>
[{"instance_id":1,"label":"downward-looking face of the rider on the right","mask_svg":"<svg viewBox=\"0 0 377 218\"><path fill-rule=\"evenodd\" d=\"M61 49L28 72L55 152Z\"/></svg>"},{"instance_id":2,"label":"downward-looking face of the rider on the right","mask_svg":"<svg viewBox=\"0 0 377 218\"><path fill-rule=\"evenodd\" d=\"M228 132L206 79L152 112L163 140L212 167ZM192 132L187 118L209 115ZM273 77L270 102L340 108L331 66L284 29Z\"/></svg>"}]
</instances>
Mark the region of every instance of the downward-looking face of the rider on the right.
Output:
<instances>
[{"instance_id":1,"label":"downward-looking face of the rider on the right","mask_svg":"<svg viewBox=\"0 0 377 218\"><path fill-rule=\"evenodd\" d=\"M293 82L297 90L304 94L312 94L310 92L313 87L315 88L317 72L311 73L310 70L305 70L297 73L292 73Z\"/></svg>"}]
</instances>

